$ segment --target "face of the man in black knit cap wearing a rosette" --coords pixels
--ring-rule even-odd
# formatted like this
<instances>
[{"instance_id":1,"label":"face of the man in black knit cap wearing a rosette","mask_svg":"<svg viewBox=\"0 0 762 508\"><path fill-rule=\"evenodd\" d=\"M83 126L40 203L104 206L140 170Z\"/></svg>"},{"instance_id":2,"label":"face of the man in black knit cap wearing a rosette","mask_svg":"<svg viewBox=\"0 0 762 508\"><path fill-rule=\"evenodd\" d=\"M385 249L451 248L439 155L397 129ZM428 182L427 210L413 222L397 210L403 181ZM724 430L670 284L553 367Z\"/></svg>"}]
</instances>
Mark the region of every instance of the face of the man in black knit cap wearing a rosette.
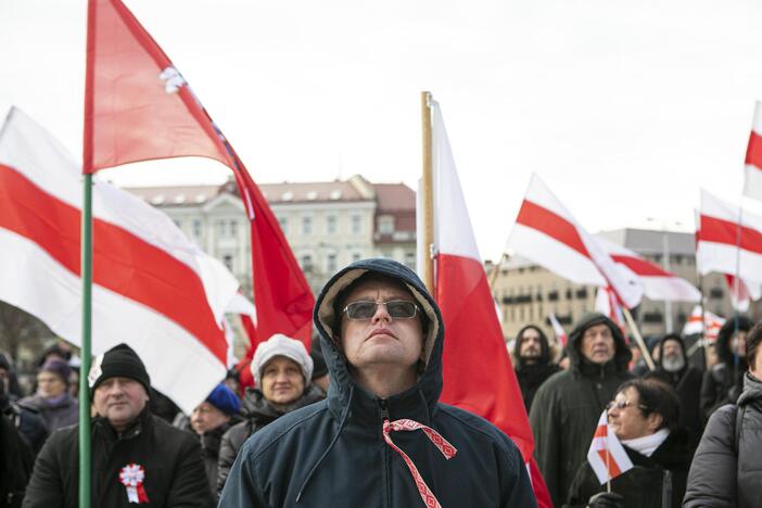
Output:
<instances>
[{"instance_id":1,"label":"face of the man in black knit cap wearing a rosette","mask_svg":"<svg viewBox=\"0 0 762 508\"><path fill-rule=\"evenodd\" d=\"M138 381L129 378L109 378L96 389L92 403L111 426L123 431L129 426L148 403L145 389Z\"/></svg>"}]
</instances>

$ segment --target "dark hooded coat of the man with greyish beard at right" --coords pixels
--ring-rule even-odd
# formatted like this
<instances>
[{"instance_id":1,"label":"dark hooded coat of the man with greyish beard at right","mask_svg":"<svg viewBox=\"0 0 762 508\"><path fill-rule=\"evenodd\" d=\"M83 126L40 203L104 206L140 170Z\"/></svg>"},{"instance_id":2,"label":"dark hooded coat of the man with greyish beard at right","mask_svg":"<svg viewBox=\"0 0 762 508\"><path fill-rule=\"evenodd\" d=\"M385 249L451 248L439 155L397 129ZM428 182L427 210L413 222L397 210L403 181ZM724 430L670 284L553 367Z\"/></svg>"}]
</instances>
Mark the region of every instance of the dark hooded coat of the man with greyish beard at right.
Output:
<instances>
[{"instance_id":1,"label":"dark hooded coat of the man with greyish beard at right","mask_svg":"<svg viewBox=\"0 0 762 508\"><path fill-rule=\"evenodd\" d=\"M671 384L677 397L680 398L680 423L678 427L688 431L688 443L696 448L701 433L703 432L703 415L701 414L700 392L701 378L703 372L688 364L688 356L685 352L685 343L678 335L668 335L670 341L678 341L683 346L683 357L685 367L677 372L668 372L661 366L661 359L657 361L657 369L653 372L647 373L645 377L659 379L668 384ZM664 339L659 343L663 344Z\"/></svg>"}]
</instances>

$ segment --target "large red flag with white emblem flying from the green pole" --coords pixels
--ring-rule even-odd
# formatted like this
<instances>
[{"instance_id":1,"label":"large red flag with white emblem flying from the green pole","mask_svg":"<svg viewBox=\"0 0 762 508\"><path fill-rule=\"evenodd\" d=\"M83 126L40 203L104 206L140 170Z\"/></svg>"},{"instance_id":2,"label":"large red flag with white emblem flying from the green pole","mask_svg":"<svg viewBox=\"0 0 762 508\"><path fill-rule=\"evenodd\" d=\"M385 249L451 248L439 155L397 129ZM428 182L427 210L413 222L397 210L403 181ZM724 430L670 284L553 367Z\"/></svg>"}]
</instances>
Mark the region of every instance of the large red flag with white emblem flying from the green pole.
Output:
<instances>
[{"instance_id":1,"label":"large red flag with white emblem flying from the green pole","mask_svg":"<svg viewBox=\"0 0 762 508\"><path fill-rule=\"evenodd\" d=\"M87 47L82 170L179 156L230 167L251 220L259 332L309 348L312 290L265 196L186 79L118 0L90 0Z\"/></svg>"}]
</instances>

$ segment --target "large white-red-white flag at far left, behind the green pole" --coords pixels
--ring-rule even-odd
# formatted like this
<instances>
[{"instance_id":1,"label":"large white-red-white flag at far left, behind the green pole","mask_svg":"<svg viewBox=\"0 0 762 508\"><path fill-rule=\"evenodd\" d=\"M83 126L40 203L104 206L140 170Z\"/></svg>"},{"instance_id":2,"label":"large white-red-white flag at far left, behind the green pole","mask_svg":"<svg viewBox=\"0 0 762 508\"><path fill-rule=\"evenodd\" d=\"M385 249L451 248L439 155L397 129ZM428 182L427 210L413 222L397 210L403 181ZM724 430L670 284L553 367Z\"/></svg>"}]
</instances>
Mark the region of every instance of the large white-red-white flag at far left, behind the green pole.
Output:
<instances>
[{"instance_id":1,"label":"large white-red-white flag at far left, behind the green pole","mask_svg":"<svg viewBox=\"0 0 762 508\"><path fill-rule=\"evenodd\" d=\"M79 166L12 109L0 132L0 300L81 339ZM185 411L225 377L238 282L162 212L96 179L92 352L124 342ZM189 365L193 369L188 369Z\"/></svg>"}]
</instances>

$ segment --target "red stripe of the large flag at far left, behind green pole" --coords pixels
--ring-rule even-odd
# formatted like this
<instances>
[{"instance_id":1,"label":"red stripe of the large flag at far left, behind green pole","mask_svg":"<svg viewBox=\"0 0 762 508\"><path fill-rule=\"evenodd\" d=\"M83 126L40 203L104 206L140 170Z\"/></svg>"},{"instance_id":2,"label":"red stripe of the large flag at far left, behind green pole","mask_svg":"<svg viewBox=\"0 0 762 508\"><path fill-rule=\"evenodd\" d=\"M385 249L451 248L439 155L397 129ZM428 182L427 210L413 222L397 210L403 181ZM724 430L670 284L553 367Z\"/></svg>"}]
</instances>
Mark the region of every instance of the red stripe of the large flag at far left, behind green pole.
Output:
<instances>
[{"instance_id":1,"label":"red stripe of the large flag at far left, behind green pole","mask_svg":"<svg viewBox=\"0 0 762 508\"><path fill-rule=\"evenodd\" d=\"M77 276L80 221L78 208L0 164L0 228L35 242ZM193 269L125 229L98 218L93 221L93 241L94 284L166 316L226 363L223 331L215 323L204 287ZM182 285L178 287L178 282Z\"/></svg>"}]
</instances>

